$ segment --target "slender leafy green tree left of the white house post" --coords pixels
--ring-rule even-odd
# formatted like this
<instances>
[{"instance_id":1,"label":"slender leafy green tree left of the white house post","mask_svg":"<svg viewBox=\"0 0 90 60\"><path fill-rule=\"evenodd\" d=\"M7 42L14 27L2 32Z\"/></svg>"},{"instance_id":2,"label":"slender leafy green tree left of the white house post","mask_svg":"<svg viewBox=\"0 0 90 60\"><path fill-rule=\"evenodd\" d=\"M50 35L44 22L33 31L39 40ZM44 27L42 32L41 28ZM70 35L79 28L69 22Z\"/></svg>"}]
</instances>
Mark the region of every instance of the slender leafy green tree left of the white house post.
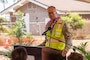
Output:
<instances>
[{"instance_id":1,"label":"slender leafy green tree left of the white house post","mask_svg":"<svg viewBox=\"0 0 90 60\"><path fill-rule=\"evenodd\" d=\"M16 36L19 40L23 35L25 35L26 25L21 11L18 11L18 20L15 22L15 25L11 26L11 28L12 32L10 35Z\"/></svg>"}]
</instances>

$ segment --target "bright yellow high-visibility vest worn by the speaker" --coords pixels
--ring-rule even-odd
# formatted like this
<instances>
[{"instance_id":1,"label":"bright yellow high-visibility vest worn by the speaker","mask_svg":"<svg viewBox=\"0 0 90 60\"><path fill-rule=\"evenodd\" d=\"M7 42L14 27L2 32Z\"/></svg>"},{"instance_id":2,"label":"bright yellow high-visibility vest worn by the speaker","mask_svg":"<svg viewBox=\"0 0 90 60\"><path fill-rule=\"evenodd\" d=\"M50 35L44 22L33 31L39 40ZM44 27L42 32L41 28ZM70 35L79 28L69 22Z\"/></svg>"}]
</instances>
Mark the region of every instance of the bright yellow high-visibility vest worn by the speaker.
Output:
<instances>
[{"instance_id":1,"label":"bright yellow high-visibility vest worn by the speaker","mask_svg":"<svg viewBox=\"0 0 90 60\"><path fill-rule=\"evenodd\" d=\"M60 23L60 19L57 20L56 24L53 27L51 37L50 37L50 31L47 31L46 33L46 37L48 38L48 40L50 40L49 38L53 38L56 40L64 39L64 35L62 33L63 24L64 24L64 21ZM55 48L58 50L63 50L65 48L65 43L64 42L46 42L45 46Z\"/></svg>"}]
</instances>

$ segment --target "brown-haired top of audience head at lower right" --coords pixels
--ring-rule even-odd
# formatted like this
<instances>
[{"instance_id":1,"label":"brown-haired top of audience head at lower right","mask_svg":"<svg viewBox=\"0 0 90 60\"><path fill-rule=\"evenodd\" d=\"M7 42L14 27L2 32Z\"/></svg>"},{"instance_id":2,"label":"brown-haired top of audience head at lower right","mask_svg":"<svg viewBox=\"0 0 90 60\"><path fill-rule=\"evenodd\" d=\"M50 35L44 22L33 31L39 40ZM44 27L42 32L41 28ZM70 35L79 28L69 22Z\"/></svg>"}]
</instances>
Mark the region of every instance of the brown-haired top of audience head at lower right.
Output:
<instances>
[{"instance_id":1,"label":"brown-haired top of audience head at lower right","mask_svg":"<svg viewBox=\"0 0 90 60\"><path fill-rule=\"evenodd\" d=\"M83 55L77 52L72 52L68 57L68 60L83 60Z\"/></svg>"}]
</instances>

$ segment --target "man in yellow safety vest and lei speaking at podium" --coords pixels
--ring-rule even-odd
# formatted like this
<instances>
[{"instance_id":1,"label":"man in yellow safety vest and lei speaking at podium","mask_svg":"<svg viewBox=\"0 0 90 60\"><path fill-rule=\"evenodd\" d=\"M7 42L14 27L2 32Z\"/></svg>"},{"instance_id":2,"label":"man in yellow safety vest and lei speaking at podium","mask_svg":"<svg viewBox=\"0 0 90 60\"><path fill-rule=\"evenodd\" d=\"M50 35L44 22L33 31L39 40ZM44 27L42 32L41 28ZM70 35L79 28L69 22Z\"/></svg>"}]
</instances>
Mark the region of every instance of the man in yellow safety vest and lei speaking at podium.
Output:
<instances>
[{"instance_id":1,"label":"man in yellow safety vest and lei speaking at podium","mask_svg":"<svg viewBox=\"0 0 90 60\"><path fill-rule=\"evenodd\" d=\"M48 7L50 21L46 24L46 37L42 45L59 50L63 59L66 60L66 53L71 48L71 33L65 21L57 14L54 6Z\"/></svg>"}]
</instances>

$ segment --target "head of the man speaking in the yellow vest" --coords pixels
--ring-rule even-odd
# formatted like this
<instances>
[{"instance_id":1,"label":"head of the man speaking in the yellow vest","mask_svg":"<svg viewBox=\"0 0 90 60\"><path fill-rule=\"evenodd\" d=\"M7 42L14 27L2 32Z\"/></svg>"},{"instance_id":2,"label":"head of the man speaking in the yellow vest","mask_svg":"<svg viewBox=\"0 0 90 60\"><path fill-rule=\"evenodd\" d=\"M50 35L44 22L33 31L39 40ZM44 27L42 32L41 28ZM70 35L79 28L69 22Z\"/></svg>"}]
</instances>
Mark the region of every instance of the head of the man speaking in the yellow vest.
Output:
<instances>
[{"instance_id":1,"label":"head of the man speaking in the yellow vest","mask_svg":"<svg viewBox=\"0 0 90 60\"><path fill-rule=\"evenodd\" d=\"M48 7L48 15L51 20L54 20L57 17L56 8L54 6Z\"/></svg>"}]
</instances>

